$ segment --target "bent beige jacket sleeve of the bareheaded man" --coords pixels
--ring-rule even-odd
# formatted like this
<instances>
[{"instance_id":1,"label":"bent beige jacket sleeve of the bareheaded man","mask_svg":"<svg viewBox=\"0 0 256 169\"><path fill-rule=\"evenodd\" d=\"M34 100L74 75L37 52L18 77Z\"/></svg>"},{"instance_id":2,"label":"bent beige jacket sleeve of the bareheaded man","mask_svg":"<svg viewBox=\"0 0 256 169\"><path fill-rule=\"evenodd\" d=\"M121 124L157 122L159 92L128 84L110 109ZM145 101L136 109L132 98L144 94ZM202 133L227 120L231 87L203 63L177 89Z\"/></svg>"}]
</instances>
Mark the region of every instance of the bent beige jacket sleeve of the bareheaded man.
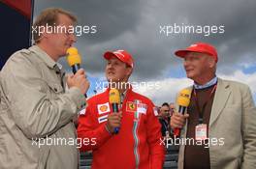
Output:
<instances>
[{"instance_id":1,"label":"bent beige jacket sleeve of the bareheaded man","mask_svg":"<svg viewBox=\"0 0 256 169\"><path fill-rule=\"evenodd\" d=\"M70 123L85 104L85 98L75 87L49 98L48 82L41 70L20 53L8 61L1 76L11 116L29 139L46 137Z\"/></svg>"}]
</instances>

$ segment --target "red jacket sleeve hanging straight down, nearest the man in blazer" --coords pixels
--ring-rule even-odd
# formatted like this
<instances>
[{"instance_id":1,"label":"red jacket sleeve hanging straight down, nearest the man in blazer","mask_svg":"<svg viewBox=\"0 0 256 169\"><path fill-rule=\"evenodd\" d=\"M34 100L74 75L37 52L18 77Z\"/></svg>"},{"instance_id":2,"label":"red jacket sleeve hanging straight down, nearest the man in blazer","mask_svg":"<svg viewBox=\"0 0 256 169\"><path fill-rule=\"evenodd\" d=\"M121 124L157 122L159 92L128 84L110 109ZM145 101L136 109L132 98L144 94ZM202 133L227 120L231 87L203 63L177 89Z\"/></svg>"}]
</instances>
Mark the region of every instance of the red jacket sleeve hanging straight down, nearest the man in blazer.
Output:
<instances>
[{"instance_id":1,"label":"red jacket sleeve hanging straight down, nearest the man in blazer","mask_svg":"<svg viewBox=\"0 0 256 169\"><path fill-rule=\"evenodd\" d=\"M153 107L153 103L150 102L146 113L146 135L150 152L150 168L162 169L165 161L165 148L164 145L161 144L161 125L154 115Z\"/></svg>"}]
</instances>

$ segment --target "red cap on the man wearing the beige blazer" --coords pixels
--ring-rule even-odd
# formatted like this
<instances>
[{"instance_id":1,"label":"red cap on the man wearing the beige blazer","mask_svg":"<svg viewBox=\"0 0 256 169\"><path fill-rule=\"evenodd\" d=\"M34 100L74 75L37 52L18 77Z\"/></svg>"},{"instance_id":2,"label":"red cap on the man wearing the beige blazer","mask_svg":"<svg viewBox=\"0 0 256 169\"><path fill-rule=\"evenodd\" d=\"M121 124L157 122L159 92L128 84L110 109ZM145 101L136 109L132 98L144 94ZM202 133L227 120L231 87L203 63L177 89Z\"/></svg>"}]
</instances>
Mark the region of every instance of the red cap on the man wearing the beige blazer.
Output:
<instances>
[{"instance_id":1,"label":"red cap on the man wearing the beige blazer","mask_svg":"<svg viewBox=\"0 0 256 169\"><path fill-rule=\"evenodd\" d=\"M206 53L210 55L215 60L216 63L218 62L217 50L215 49L214 46L206 42L196 42L185 49L177 50L175 54L176 56L183 58L186 56L188 52Z\"/></svg>"}]
</instances>

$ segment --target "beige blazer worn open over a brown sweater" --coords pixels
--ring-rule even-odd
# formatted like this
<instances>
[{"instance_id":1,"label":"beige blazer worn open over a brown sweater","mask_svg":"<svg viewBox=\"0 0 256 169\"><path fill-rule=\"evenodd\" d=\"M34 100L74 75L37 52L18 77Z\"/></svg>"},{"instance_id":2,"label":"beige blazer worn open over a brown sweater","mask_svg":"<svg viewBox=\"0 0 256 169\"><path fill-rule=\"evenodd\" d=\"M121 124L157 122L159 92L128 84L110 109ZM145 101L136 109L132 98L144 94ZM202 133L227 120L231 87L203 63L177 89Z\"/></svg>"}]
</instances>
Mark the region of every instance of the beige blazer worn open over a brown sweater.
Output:
<instances>
[{"instance_id":1,"label":"beige blazer worn open over a brown sweater","mask_svg":"<svg viewBox=\"0 0 256 169\"><path fill-rule=\"evenodd\" d=\"M181 138L186 136L186 127ZM218 78L208 136L222 140L209 146L211 169L256 168L256 108L247 85ZM180 145L179 169L183 168L184 148Z\"/></svg>"}]
</instances>

